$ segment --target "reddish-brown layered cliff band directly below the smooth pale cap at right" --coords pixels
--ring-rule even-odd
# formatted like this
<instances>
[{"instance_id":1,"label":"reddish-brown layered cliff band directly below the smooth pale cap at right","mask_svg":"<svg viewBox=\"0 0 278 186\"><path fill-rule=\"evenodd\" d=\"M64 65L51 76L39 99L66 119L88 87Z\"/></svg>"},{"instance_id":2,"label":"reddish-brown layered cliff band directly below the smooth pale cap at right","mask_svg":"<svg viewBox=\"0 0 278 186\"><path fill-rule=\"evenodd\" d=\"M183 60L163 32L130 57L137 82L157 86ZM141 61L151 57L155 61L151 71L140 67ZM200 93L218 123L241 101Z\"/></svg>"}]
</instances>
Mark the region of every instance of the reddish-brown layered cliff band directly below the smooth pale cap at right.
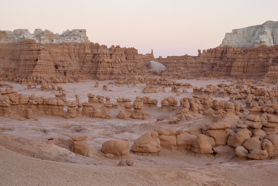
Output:
<instances>
[{"instance_id":1,"label":"reddish-brown layered cliff band directly below the smooth pale cap at right","mask_svg":"<svg viewBox=\"0 0 278 186\"><path fill-rule=\"evenodd\" d=\"M233 46L220 46L214 49L199 50L197 57L171 56L156 61L166 66L166 76L175 73L177 78L221 77L271 78L277 76L278 45L259 48L238 49Z\"/></svg>"}]
</instances>

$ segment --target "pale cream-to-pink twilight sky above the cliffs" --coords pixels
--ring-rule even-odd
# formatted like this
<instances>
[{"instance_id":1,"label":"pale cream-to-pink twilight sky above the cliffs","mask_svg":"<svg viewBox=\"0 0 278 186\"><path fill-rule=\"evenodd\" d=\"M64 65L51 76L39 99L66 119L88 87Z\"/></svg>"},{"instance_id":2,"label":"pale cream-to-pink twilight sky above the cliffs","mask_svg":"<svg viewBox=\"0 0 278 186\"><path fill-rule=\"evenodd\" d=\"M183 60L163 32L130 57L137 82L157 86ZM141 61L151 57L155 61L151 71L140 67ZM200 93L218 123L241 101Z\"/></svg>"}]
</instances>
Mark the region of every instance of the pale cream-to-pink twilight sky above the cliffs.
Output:
<instances>
[{"instance_id":1,"label":"pale cream-to-pink twilight sky above the cliffs","mask_svg":"<svg viewBox=\"0 0 278 186\"><path fill-rule=\"evenodd\" d=\"M0 0L0 30L86 29L91 42L108 48L196 56L232 29L278 21L277 8L277 0Z\"/></svg>"}]
</instances>

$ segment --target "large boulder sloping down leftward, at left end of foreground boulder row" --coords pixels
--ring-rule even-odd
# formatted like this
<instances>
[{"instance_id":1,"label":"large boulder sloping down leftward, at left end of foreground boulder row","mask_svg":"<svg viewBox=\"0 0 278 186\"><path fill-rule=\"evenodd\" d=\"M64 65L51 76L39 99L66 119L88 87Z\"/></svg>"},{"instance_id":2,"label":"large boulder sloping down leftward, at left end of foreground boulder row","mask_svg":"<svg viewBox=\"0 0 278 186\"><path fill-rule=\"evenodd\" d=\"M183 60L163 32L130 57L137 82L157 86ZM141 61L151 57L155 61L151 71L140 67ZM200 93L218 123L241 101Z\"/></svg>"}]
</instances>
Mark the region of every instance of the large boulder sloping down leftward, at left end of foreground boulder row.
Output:
<instances>
[{"instance_id":1,"label":"large boulder sloping down leftward, at left end of foreground boulder row","mask_svg":"<svg viewBox=\"0 0 278 186\"><path fill-rule=\"evenodd\" d=\"M145 133L144 135L138 137L134 140L133 145L130 150L132 152L145 152L145 153L157 153L162 150L160 146L160 140L158 138L158 133Z\"/></svg>"}]
</instances>

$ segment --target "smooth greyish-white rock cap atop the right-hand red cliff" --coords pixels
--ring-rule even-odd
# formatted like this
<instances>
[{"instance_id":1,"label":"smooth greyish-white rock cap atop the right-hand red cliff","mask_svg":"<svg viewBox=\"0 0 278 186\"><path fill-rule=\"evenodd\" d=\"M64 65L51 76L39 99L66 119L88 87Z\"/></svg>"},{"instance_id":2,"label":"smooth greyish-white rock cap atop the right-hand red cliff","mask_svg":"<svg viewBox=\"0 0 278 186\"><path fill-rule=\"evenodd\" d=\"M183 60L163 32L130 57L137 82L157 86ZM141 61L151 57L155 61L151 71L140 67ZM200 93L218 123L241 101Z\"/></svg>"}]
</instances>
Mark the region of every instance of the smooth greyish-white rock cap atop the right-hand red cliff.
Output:
<instances>
[{"instance_id":1,"label":"smooth greyish-white rock cap atop the right-hand red cliff","mask_svg":"<svg viewBox=\"0 0 278 186\"><path fill-rule=\"evenodd\" d=\"M233 29L231 33L226 33L220 46L252 48L263 44L267 46L278 44L278 21L267 21L261 25Z\"/></svg>"}]
</instances>

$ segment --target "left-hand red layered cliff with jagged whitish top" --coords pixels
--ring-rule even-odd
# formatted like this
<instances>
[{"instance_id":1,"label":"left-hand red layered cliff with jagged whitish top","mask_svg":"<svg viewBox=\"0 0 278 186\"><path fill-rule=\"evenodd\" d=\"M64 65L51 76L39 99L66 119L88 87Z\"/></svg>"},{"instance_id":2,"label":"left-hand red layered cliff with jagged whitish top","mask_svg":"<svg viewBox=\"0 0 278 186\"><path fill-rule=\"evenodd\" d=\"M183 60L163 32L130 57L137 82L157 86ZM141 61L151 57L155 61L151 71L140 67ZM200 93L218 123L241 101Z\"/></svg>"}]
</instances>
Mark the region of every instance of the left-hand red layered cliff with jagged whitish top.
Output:
<instances>
[{"instance_id":1,"label":"left-hand red layered cliff with jagged whitish top","mask_svg":"<svg viewBox=\"0 0 278 186\"><path fill-rule=\"evenodd\" d=\"M0 74L15 81L116 79L144 71L150 60L154 60L153 53L143 55L135 48L107 48L90 42L84 29L61 35L40 29L33 34L27 29L0 32Z\"/></svg>"}]
</instances>

